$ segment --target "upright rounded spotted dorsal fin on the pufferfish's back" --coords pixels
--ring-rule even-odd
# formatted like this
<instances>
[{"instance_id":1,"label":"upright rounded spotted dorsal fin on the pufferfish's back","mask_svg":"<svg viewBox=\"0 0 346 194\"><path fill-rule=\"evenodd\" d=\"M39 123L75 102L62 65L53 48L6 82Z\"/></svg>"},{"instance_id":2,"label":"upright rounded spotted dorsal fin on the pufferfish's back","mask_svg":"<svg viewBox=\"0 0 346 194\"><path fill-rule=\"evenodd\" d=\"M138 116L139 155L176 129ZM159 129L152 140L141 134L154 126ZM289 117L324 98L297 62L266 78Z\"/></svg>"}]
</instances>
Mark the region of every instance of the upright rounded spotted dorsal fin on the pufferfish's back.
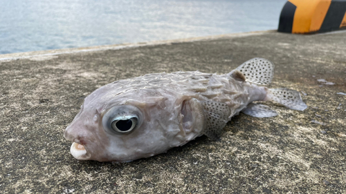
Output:
<instances>
[{"instance_id":1,"label":"upright rounded spotted dorsal fin on the pufferfish's back","mask_svg":"<svg viewBox=\"0 0 346 194\"><path fill-rule=\"evenodd\" d=\"M274 75L274 64L267 59L253 58L236 68L246 81L253 84L270 85Z\"/></svg>"}]
</instances>

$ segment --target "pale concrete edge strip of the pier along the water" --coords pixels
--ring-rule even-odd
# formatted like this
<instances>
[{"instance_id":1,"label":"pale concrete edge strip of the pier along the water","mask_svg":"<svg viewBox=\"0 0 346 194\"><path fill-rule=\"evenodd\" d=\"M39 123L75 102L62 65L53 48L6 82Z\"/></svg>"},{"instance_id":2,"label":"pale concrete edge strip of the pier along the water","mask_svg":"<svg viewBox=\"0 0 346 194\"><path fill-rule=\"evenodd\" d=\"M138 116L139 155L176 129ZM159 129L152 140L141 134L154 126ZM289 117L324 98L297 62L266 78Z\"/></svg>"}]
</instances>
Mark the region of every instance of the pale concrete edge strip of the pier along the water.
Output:
<instances>
[{"instance_id":1,"label":"pale concrete edge strip of the pier along the water","mask_svg":"<svg viewBox=\"0 0 346 194\"><path fill-rule=\"evenodd\" d=\"M183 43L183 42L192 42L192 41L205 41L210 39L220 39L220 38L228 38L228 37L248 37L248 36L256 36L256 35L264 35L268 33L277 32L277 30L264 30L264 31L254 31L254 32L240 32L240 33L232 33L226 35L212 35L207 37L194 37L188 39L172 39L165 41L149 41L149 42L139 42L139 43L121 43L121 44L113 44L106 46L89 46L82 48L63 48L57 50L42 50L42 51L31 51L31 52L17 52L0 55L0 61L12 61L17 59L28 59L31 57L48 57L53 55L63 55L63 54L71 54L78 52L94 52L101 50L119 50L123 48L136 48L141 46L156 46L156 45L164 45L170 43Z\"/></svg>"}]
</instances>

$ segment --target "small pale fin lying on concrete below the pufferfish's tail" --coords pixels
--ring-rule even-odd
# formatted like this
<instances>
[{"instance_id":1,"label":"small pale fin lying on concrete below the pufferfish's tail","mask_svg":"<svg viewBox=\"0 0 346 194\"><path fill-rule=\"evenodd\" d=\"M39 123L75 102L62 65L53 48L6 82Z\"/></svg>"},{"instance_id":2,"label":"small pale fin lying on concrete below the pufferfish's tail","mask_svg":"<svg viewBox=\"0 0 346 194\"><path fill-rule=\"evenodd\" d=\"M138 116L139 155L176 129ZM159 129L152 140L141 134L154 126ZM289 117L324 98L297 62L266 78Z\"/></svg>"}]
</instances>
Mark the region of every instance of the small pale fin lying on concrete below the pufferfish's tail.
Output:
<instances>
[{"instance_id":1,"label":"small pale fin lying on concrete below the pufferfish's tail","mask_svg":"<svg viewBox=\"0 0 346 194\"><path fill-rule=\"evenodd\" d=\"M277 113L275 110L271 110L268 106L263 104L250 103L246 108L242 110L242 113L250 115L252 117L275 117Z\"/></svg>"}]
</instances>

